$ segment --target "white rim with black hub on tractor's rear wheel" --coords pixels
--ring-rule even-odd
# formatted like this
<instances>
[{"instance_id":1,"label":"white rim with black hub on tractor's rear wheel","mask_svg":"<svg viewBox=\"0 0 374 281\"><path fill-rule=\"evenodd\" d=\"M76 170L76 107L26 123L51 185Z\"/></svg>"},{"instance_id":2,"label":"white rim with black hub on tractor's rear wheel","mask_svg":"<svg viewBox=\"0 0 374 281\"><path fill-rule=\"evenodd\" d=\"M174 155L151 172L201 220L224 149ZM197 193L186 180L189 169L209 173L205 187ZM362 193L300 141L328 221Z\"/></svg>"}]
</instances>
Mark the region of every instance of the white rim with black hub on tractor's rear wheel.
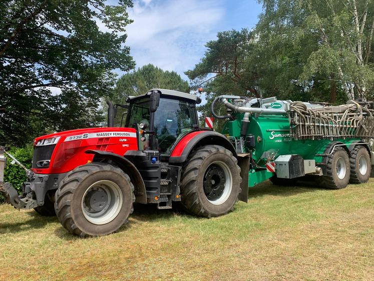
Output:
<instances>
[{"instance_id":1,"label":"white rim with black hub on tractor's rear wheel","mask_svg":"<svg viewBox=\"0 0 374 281\"><path fill-rule=\"evenodd\" d=\"M231 194L232 182L230 168L222 161L213 162L204 173L205 197L213 205L223 204Z\"/></svg>"}]
</instances>

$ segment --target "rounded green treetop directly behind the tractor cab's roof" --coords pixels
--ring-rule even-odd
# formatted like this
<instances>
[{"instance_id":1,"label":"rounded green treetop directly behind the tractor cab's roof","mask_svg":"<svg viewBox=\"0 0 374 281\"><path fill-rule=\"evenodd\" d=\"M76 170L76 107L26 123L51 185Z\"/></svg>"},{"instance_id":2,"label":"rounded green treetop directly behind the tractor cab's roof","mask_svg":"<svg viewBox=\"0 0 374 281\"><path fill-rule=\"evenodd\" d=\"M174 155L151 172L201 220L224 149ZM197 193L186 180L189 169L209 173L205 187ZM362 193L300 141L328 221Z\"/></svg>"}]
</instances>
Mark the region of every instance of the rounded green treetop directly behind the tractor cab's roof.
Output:
<instances>
[{"instance_id":1,"label":"rounded green treetop directly behind the tractor cab's roof","mask_svg":"<svg viewBox=\"0 0 374 281\"><path fill-rule=\"evenodd\" d=\"M152 64L126 73L117 81L115 88L115 103L125 104L127 96L136 96L146 93L152 88L176 90L188 93L190 87L188 82L175 71L164 71ZM123 110L119 109L116 115L116 124L120 124Z\"/></svg>"}]
</instances>

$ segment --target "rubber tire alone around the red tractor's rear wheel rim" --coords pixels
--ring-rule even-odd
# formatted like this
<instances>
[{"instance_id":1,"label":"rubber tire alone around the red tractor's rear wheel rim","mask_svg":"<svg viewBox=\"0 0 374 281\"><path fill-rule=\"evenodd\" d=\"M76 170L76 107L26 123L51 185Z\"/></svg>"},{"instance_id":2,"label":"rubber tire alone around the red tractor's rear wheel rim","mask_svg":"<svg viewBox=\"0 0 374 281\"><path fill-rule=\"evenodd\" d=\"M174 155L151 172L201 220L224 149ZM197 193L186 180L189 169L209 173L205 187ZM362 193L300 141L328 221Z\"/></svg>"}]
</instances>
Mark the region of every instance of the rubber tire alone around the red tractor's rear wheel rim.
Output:
<instances>
[{"instance_id":1,"label":"rubber tire alone around the red tractor's rear wheel rim","mask_svg":"<svg viewBox=\"0 0 374 281\"><path fill-rule=\"evenodd\" d=\"M219 205L212 204L212 201L208 200L203 186L205 173L208 167L211 169L211 165L216 165L214 163L224 163L232 180L231 192L227 199ZM208 218L233 211L234 204L238 201L238 195L241 192L240 168L237 163L232 153L221 146L204 146L193 152L182 171L181 204L183 209L190 214ZM224 194L225 192L221 197Z\"/></svg>"}]
</instances>

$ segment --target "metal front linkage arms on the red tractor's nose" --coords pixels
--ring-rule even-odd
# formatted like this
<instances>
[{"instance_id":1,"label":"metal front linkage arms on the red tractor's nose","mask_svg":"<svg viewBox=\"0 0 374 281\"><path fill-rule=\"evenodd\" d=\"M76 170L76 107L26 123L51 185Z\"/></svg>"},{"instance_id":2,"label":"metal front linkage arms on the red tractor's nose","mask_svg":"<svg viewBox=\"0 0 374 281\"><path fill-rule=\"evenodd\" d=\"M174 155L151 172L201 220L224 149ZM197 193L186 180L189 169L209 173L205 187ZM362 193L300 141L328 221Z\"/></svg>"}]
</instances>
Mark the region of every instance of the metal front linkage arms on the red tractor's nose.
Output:
<instances>
[{"instance_id":1,"label":"metal front linkage arms on the red tractor's nose","mask_svg":"<svg viewBox=\"0 0 374 281\"><path fill-rule=\"evenodd\" d=\"M8 203L18 209L31 209L39 206L37 200L33 199L33 193L24 193L18 195L17 190L11 183L4 183L4 170L7 165L5 154L11 158L18 166L25 170L29 180L32 180L33 172L22 165L13 155L5 151L4 147L0 147L0 192L7 199ZM43 205L43 204L42 204Z\"/></svg>"}]
</instances>

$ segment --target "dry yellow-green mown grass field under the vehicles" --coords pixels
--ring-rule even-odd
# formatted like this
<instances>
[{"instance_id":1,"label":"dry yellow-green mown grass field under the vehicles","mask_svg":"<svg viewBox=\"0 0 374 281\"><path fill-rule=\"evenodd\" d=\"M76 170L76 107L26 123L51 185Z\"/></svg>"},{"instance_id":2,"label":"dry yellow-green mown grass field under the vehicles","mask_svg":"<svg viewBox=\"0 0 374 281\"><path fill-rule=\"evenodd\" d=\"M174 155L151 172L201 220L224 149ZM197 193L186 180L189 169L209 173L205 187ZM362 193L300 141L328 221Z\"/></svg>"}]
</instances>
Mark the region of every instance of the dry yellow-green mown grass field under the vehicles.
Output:
<instances>
[{"instance_id":1,"label":"dry yellow-green mown grass field under the vehicles","mask_svg":"<svg viewBox=\"0 0 374 281\"><path fill-rule=\"evenodd\" d=\"M136 206L118 233L80 239L0 205L0 280L374 280L374 179L343 190L249 190L205 219Z\"/></svg>"}]
</instances>

